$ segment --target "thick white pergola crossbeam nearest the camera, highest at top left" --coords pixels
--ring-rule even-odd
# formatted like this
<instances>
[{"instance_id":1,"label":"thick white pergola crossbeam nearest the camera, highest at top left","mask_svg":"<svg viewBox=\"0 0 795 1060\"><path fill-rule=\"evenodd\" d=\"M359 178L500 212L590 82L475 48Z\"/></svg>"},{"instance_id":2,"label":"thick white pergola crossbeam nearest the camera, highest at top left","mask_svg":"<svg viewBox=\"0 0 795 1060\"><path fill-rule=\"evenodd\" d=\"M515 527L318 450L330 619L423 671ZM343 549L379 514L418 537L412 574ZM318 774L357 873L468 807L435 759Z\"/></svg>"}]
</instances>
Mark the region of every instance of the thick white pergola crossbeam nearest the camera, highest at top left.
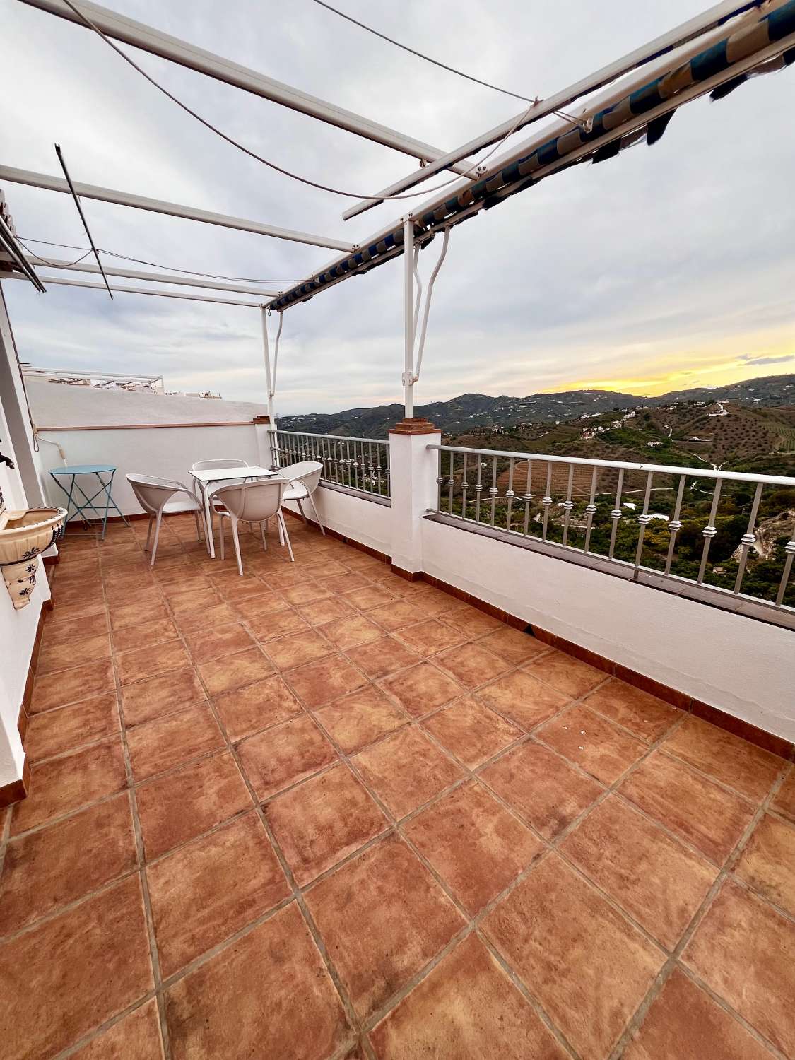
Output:
<instances>
[{"instance_id":1,"label":"thick white pergola crossbeam nearest the camera, highest at top left","mask_svg":"<svg viewBox=\"0 0 795 1060\"><path fill-rule=\"evenodd\" d=\"M63 0L21 0L21 2L87 29L86 23L77 18ZM204 48L197 48L195 45L180 40L178 37L172 37L167 33L161 33L160 30L155 30L143 22L125 18L113 11L108 11L107 7L90 3L89 0L78 0L76 5L103 33L114 40L132 45L152 55L159 55L172 63L178 63L190 70L207 74L216 81L226 82L227 85L242 88L246 92L252 92L264 100L279 103L281 106L298 110L311 118L317 118L329 125L336 125L337 128L354 132L356 136L383 144L385 147L392 147L394 151L410 155L412 158L430 162L445 154L440 147L434 147L428 143L423 143L422 140L416 140L413 137L405 136L386 125L373 122L369 118L363 118L351 110L344 110L333 103L326 103L315 95L310 95L308 92L302 92L290 85L273 81L272 77L266 77L265 74L241 66L238 63L232 63L231 59L205 51ZM457 173L463 173L467 166L455 165L454 169Z\"/></svg>"}]
</instances>

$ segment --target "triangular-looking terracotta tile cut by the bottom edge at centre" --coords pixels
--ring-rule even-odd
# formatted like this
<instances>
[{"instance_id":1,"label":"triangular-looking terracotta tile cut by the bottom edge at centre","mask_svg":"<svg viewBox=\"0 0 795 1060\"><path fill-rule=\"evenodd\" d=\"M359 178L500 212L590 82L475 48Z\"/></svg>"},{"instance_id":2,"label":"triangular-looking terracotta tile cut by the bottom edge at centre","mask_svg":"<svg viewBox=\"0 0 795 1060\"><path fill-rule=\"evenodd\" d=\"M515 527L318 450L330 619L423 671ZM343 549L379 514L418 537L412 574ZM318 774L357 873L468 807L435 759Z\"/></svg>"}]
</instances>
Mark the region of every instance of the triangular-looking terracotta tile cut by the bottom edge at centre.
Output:
<instances>
[{"instance_id":1,"label":"triangular-looking terracotta tile cut by the bottom edge at centre","mask_svg":"<svg viewBox=\"0 0 795 1060\"><path fill-rule=\"evenodd\" d=\"M370 1040L378 1060L568 1057L475 935L448 953Z\"/></svg>"}]
</instances>

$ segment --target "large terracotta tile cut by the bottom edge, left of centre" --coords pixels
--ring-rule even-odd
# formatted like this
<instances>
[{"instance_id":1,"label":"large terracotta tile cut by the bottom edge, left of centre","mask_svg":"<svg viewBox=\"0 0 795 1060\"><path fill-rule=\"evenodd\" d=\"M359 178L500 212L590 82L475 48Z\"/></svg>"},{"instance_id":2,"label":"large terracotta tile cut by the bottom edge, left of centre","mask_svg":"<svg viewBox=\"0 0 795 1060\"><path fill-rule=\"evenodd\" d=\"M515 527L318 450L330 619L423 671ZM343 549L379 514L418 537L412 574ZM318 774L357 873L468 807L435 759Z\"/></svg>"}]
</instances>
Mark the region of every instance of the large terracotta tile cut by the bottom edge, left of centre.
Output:
<instances>
[{"instance_id":1,"label":"large terracotta tile cut by the bottom edge, left of centre","mask_svg":"<svg viewBox=\"0 0 795 1060\"><path fill-rule=\"evenodd\" d=\"M165 994L175 1060L326 1060L344 1010L295 902Z\"/></svg>"}]
</instances>

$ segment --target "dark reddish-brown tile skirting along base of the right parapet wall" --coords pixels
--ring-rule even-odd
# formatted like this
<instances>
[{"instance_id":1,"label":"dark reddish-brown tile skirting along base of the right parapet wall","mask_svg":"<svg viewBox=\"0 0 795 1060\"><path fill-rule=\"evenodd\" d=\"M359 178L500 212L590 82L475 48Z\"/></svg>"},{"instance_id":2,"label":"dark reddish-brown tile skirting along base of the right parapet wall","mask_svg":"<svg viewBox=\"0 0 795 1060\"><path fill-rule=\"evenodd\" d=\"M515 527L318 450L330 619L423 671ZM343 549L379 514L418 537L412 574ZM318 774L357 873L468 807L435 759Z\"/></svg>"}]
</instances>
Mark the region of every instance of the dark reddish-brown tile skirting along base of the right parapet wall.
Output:
<instances>
[{"instance_id":1,"label":"dark reddish-brown tile skirting along base of the right parapet wall","mask_svg":"<svg viewBox=\"0 0 795 1060\"><path fill-rule=\"evenodd\" d=\"M285 511L294 518L301 517L298 513L289 511L289 509L285 509ZM314 526L317 525L314 519L308 519L308 522ZM457 588L455 585L449 585L447 582L443 582L441 579L435 578L432 575L426 575L423 571L408 571L403 570L400 567L395 567L391 562L391 558L386 555L384 552L378 552L374 548L370 548L369 546L363 545L357 541L353 541L351 537L346 537L344 534L338 533L330 527L325 528L325 532L331 537L336 537L338 541L344 542L346 545L352 545L353 548L357 548L359 551L367 552L368 555L372 555L376 560L381 560L382 563L389 563L395 575L401 578L405 578L409 582L427 582L429 585L434 585L443 593L448 593L462 603L472 604L473 607L477 607L478 611L482 611L487 615L491 615L500 622L505 622L507 625L511 625L515 630L520 630L523 633L528 633L531 636L536 637L538 640L543 640L544 643L549 644L552 648L556 648L559 651L565 652L567 655L581 659L583 662L587 662L597 670L602 670L604 673L619 677L621 681L625 681L628 685L633 685L635 688L639 688L643 692L649 692L650 695L656 695L657 699L662 700L665 703L670 703L673 707L678 707L679 710L685 710L688 713L695 714L696 718L702 718L704 721L710 722L718 728L725 729L727 732L732 732L735 736L742 737L742 739L747 740L748 743L756 744L757 747L762 747L764 750L770 750L772 754L778 755L779 758L784 758L787 760L791 760L793 758L795 745L793 745L790 740L784 740L783 737L776 736L773 732L766 732L764 729L758 728L756 725L752 725L749 722L743 721L742 718L736 718L734 714L726 713L719 707L713 707L709 703L703 703L701 700L695 700L692 696L687 695L685 692L679 692L675 688L662 685L659 682L654 681L652 677L647 677L646 674L639 673L636 670L631 670L629 667L622 666L614 659L608 659L604 655L598 655L596 652L591 652L587 648L582 648L580 644L576 644L571 640L565 640L563 637L559 637L554 633L549 633L547 630L543 630L538 625L529 625L523 618L510 615L507 611L501 611L499 607L495 607L493 604L487 603L484 600L480 600L478 597L474 597L463 589Z\"/></svg>"}]
</instances>

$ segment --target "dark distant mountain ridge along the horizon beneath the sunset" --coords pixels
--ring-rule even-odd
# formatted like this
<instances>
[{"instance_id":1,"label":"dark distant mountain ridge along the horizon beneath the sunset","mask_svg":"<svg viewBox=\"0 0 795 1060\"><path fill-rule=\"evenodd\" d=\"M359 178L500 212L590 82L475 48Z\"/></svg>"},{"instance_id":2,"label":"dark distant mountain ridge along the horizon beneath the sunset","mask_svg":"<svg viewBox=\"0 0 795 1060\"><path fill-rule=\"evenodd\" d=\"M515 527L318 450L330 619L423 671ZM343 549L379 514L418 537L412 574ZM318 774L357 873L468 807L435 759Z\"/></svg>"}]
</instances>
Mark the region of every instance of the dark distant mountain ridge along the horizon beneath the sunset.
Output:
<instances>
[{"instance_id":1,"label":"dark distant mountain ridge along the horizon beneath the sunset","mask_svg":"<svg viewBox=\"0 0 795 1060\"><path fill-rule=\"evenodd\" d=\"M565 390L536 393L527 398L469 393L446 402L431 402L414 409L447 435L462 435L475 428L504 427L543 421L564 421L602 412L634 408L660 408L675 402L729 401L745 406L779 407L795 405L795 374L765 375L723 387L694 387L672 390L657 398L615 390ZM312 434L350 435L355 438L386 438L403 419L403 405L349 408L341 412L307 412L279 420L283 430Z\"/></svg>"}]
</instances>

